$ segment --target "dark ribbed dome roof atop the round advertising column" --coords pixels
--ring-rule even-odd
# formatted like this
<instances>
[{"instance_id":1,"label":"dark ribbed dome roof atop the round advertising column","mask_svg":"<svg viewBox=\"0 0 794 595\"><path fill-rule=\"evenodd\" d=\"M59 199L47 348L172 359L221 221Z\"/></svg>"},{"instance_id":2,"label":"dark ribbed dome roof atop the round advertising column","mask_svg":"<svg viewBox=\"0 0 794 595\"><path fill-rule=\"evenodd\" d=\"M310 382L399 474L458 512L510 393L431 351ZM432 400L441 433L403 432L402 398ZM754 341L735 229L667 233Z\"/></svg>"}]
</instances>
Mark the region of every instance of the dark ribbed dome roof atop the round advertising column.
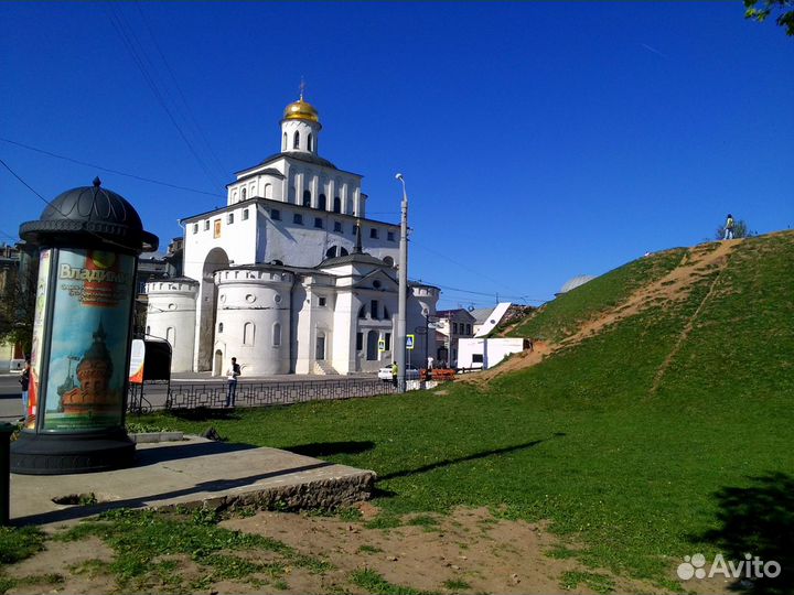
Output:
<instances>
[{"instance_id":1,"label":"dark ribbed dome roof atop the round advertising column","mask_svg":"<svg viewBox=\"0 0 794 595\"><path fill-rule=\"evenodd\" d=\"M72 188L56 196L39 220L20 226L20 237L32 244L54 239L107 242L138 252L157 250L160 244L155 235L143 230L135 207L120 194L103 188L98 177L92 186Z\"/></svg>"}]
</instances>

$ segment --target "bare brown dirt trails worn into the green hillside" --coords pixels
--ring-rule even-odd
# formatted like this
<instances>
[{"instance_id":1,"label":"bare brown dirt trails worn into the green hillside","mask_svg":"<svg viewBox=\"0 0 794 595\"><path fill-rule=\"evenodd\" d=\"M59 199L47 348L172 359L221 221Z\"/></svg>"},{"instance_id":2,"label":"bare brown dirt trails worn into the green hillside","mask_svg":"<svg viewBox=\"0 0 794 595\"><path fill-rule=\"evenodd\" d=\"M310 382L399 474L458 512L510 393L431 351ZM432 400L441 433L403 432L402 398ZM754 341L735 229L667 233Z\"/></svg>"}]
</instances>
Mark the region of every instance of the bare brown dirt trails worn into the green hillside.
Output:
<instances>
[{"instance_id":1,"label":"bare brown dirt trails worn into the green hillside","mask_svg":"<svg viewBox=\"0 0 794 595\"><path fill-rule=\"evenodd\" d=\"M687 295L689 295L691 286L699 279L711 274L716 270L718 274L711 283L708 295L687 323L687 326L682 332L682 336L677 342L676 347L674 347L673 351L670 351L668 358L665 360L665 364L663 364L659 368L659 372L657 372L657 380L661 381L666 367L669 366L673 357L680 349L683 343L686 340L686 337L689 335L704 303L706 303L708 298L712 294L717 280L720 278L722 271L728 264L731 252L741 241L743 240L738 239L731 241L720 241L717 242L717 246L715 246L715 242L696 246L684 255L678 266L669 273L653 283L639 288L626 299L625 302L615 309L586 322L573 335L570 335L557 344L547 344L545 342L537 340L535 342L535 349L533 351L516 354L495 368L471 376L463 376L457 378L455 381L479 385L489 382L503 374L535 366L545 357L554 355L559 349L578 345L586 338L598 335L608 326L634 316L648 307L662 305L669 301L677 302L685 300ZM513 327L515 327L516 324L518 323L515 323ZM658 382L655 381L654 387L657 387L657 385Z\"/></svg>"}]
</instances>

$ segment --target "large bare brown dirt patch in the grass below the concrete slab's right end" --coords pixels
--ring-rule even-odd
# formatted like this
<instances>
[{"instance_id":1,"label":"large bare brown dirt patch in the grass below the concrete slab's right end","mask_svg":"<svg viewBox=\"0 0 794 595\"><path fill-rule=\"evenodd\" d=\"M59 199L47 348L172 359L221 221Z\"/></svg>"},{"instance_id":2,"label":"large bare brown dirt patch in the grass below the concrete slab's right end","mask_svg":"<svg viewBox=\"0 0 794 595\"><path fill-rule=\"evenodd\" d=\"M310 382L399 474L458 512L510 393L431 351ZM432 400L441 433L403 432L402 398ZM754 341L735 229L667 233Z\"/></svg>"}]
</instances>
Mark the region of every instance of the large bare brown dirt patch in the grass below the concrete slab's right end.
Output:
<instances>
[{"instance_id":1,"label":"large bare brown dirt patch in the grass below the concrete slab's right end","mask_svg":"<svg viewBox=\"0 0 794 595\"><path fill-rule=\"evenodd\" d=\"M449 593L466 584L472 593L560 593L564 573L583 570L572 559L546 555L559 543L541 524L495 519L484 508L458 509L449 517L414 516L407 522L383 530L337 518L261 512L223 526L283 541L334 564L335 570L322 575L293 569L285 581L286 593L358 593L351 573L365 569L391 584L421 591ZM658 592L624 580L615 583L619 591ZM592 592L580 586L569 593Z\"/></svg>"}]
</instances>

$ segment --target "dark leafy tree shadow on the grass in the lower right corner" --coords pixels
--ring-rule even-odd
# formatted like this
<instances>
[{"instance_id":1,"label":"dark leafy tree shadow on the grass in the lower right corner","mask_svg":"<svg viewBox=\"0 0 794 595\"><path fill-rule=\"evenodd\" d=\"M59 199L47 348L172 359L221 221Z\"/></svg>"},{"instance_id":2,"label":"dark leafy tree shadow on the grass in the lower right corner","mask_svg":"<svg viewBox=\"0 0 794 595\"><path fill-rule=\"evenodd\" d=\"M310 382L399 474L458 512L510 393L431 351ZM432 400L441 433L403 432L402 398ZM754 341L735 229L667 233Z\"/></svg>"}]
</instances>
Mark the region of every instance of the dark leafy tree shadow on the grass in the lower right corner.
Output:
<instances>
[{"instance_id":1,"label":"dark leafy tree shadow on the grass in the lower right corner","mask_svg":"<svg viewBox=\"0 0 794 595\"><path fill-rule=\"evenodd\" d=\"M737 581L733 591L794 593L794 477L771 473L750 479L750 487L725 487L715 494L721 527L700 537L719 545L726 561L739 563L749 553L780 564L779 576Z\"/></svg>"}]
</instances>

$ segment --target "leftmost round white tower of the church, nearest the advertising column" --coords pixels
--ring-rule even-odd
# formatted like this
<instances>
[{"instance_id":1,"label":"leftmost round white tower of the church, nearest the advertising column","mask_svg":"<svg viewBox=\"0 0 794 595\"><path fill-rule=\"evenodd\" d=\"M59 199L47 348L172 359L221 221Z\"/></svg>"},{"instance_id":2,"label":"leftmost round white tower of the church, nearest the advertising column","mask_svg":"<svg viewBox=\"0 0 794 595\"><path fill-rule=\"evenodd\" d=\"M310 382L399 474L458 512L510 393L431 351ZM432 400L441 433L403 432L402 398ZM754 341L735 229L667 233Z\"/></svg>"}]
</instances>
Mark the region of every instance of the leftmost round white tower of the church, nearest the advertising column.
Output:
<instances>
[{"instance_id":1,"label":"leftmost round white tower of the church, nearest the advertising column","mask_svg":"<svg viewBox=\"0 0 794 595\"><path fill-rule=\"evenodd\" d=\"M171 344L172 372L193 369L197 290L198 283L186 280L158 280L146 284L149 299L146 332Z\"/></svg>"}]
</instances>

